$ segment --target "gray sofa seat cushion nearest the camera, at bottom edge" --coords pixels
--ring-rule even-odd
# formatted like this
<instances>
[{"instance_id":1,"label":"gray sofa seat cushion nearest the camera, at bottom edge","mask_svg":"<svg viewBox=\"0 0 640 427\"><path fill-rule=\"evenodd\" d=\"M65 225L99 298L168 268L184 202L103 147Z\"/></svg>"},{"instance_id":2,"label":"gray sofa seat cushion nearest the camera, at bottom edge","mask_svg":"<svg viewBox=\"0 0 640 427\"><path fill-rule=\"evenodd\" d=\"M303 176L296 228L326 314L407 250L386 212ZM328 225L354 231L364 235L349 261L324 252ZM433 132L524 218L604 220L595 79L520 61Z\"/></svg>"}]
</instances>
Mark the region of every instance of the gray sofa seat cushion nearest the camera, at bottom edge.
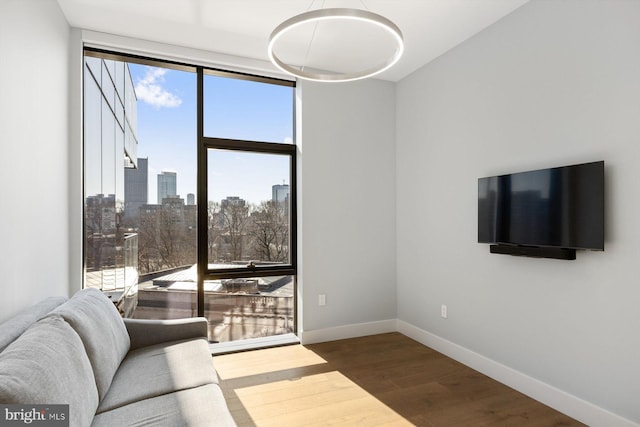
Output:
<instances>
[{"instance_id":1,"label":"gray sofa seat cushion nearest the camera, at bottom edge","mask_svg":"<svg viewBox=\"0 0 640 427\"><path fill-rule=\"evenodd\" d=\"M235 426L222 390L208 384L141 400L96 415L92 427Z\"/></svg>"}]
</instances>

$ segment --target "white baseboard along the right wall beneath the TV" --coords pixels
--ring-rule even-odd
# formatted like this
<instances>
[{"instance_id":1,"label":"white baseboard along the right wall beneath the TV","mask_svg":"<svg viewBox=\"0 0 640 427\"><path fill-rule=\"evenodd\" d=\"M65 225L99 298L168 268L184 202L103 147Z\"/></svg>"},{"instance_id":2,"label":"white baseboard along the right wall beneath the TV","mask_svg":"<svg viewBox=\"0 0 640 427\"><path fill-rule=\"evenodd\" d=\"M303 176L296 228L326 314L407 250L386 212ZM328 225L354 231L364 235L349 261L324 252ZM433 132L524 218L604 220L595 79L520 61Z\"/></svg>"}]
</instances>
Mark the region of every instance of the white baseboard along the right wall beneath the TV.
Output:
<instances>
[{"instance_id":1,"label":"white baseboard along the right wall beneath the TV","mask_svg":"<svg viewBox=\"0 0 640 427\"><path fill-rule=\"evenodd\" d=\"M397 332L406 335L458 362L526 394L580 422L593 427L631 427L638 424L582 400L549 384L491 360L465 347L397 320Z\"/></svg>"}]
</instances>

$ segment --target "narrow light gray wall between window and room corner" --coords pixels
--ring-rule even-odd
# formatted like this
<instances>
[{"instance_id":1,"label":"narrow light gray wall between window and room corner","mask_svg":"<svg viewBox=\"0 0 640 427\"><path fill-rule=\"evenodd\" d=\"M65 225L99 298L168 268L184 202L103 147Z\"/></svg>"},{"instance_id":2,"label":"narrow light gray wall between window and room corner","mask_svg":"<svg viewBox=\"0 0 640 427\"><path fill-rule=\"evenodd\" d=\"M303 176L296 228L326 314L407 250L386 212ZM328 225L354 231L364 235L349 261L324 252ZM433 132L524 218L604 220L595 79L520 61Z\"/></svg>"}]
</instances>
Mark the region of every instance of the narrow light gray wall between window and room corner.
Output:
<instances>
[{"instance_id":1,"label":"narrow light gray wall between window and room corner","mask_svg":"<svg viewBox=\"0 0 640 427\"><path fill-rule=\"evenodd\" d=\"M395 85L300 85L304 332L395 319Z\"/></svg>"}]
</instances>

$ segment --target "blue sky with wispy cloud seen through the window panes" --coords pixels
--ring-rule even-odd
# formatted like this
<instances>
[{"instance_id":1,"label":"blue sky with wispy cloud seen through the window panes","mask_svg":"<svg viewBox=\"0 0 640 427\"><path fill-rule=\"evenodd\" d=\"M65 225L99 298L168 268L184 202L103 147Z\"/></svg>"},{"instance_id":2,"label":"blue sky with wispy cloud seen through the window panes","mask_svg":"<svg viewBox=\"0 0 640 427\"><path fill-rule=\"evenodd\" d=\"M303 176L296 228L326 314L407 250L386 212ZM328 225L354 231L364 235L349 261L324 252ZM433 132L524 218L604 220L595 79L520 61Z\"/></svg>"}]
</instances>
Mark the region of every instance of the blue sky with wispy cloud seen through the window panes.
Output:
<instances>
[{"instance_id":1,"label":"blue sky with wispy cloud seen through the window panes","mask_svg":"<svg viewBox=\"0 0 640 427\"><path fill-rule=\"evenodd\" d=\"M157 175L177 173L178 195L196 193L196 74L129 64L138 97L138 157L149 158L149 203ZM291 142L293 89L205 75L205 136ZM231 151L209 154L209 200L271 198L271 186L289 184L281 156Z\"/></svg>"}]
</instances>

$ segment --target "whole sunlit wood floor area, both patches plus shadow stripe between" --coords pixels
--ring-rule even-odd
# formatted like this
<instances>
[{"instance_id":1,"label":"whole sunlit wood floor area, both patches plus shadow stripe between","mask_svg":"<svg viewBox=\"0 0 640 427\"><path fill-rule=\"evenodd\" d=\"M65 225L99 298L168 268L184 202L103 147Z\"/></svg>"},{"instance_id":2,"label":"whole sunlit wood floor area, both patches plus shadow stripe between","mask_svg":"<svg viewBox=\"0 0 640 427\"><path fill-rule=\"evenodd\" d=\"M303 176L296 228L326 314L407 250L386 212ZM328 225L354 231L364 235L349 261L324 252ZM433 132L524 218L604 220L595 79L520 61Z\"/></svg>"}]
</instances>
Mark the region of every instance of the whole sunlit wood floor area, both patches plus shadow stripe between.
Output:
<instances>
[{"instance_id":1,"label":"whole sunlit wood floor area, both patches plus shadow stripe between","mask_svg":"<svg viewBox=\"0 0 640 427\"><path fill-rule=\"evenodd\" d=\"M214 356L239 426L410 426L301 345Z\"/></svg>"}]
</instances>

